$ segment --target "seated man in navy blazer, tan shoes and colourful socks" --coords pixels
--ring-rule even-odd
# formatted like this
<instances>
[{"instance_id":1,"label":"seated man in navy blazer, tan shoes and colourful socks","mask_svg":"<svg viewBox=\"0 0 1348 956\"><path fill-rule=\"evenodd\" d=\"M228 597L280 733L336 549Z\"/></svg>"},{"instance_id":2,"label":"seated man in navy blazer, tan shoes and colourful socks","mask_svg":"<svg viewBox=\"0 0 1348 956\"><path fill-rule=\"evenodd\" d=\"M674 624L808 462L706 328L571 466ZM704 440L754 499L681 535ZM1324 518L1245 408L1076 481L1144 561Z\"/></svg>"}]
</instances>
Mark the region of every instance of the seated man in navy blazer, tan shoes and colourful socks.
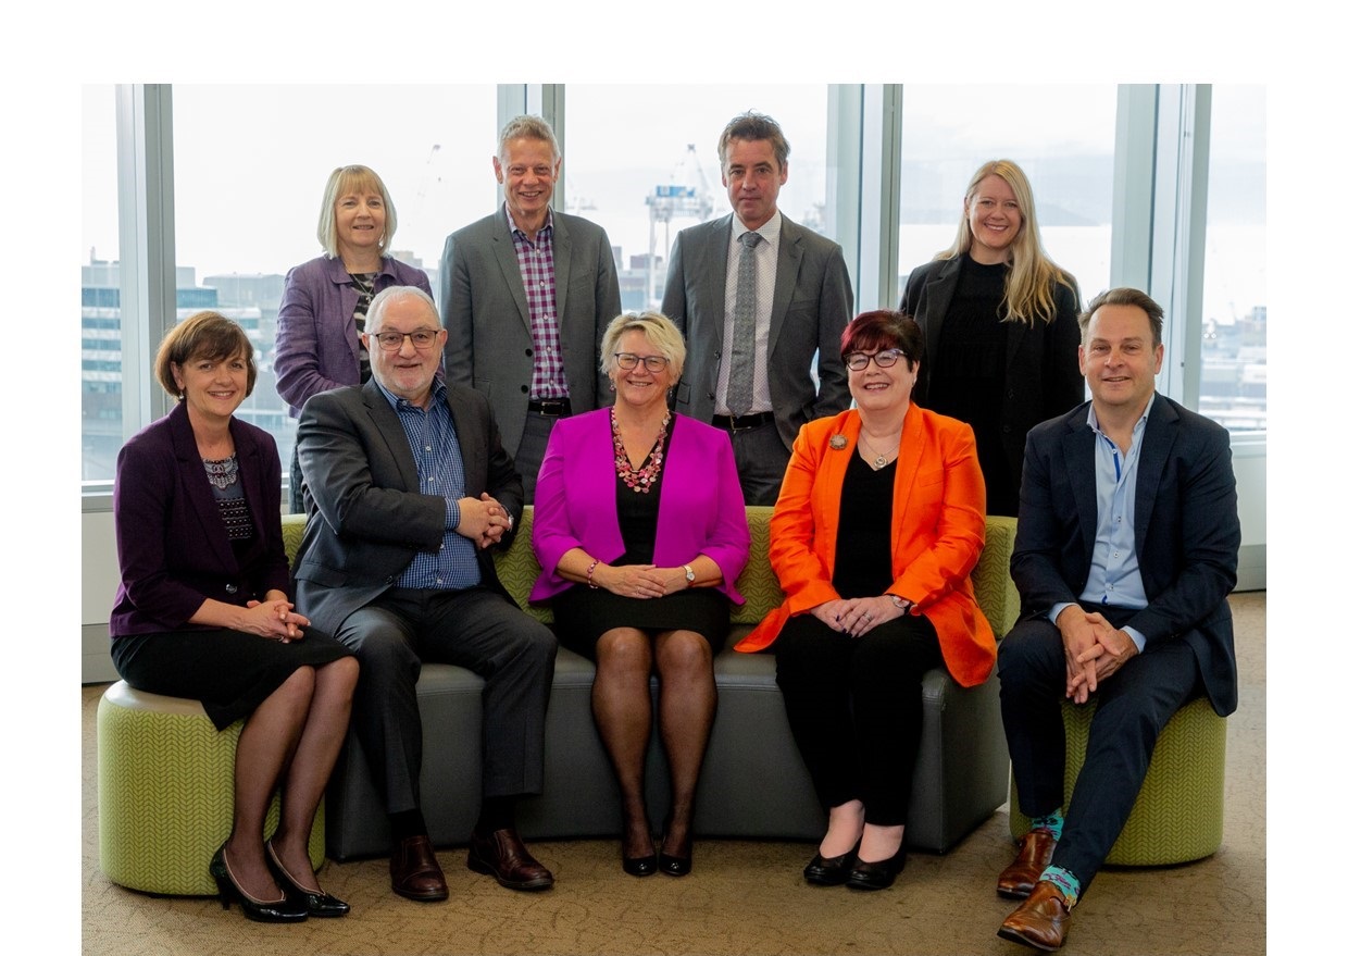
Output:
<instances>
[{"instance_id":1,"label":"seated man in navy blazer, tan shoes and colourful socks","mask_svg":"<svg viewBox=\"0 0 1348 956\"><path fill-rule=\"evenodd\" d=\"M1198 696L1221 716L1236 709L1231 437L1157 394L1161 321L1135 289L1099 295L1081 317L1091 400L1026 442L1011 557L1022 615L998 673L1031 828L998 879L999 894L1024 898L998 934L1037 949L1066 938L1171 715ZM1064 696L1097 701L1066 820Z\"/></svg>"}]
</instances>

